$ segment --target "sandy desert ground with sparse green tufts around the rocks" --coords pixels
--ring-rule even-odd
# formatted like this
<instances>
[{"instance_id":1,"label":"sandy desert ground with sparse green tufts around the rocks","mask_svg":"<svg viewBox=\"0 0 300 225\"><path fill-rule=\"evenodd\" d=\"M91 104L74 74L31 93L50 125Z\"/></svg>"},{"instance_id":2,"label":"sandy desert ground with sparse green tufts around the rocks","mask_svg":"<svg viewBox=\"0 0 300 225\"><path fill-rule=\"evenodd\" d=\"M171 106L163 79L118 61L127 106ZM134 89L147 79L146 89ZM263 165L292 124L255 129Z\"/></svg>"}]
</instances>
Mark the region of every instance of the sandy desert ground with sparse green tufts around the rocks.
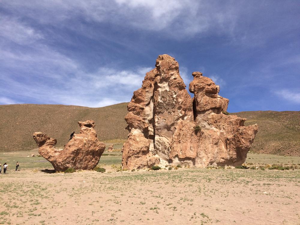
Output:
<instances>
[{"instance_id":1,"label":"sandy desert ground with sparse green tufts around the rocks","mask_svg":"<svg viewBox=\"0 0 300 225\"><path fill-rule=\"evenodd\" d=\"M0 224L300 224L300 170L162 168L53 173L37 150L1 153ZM19 171L15 163L19 161ZM299 157L248 153L251 167Z\"/></svg>"}]
</instances>

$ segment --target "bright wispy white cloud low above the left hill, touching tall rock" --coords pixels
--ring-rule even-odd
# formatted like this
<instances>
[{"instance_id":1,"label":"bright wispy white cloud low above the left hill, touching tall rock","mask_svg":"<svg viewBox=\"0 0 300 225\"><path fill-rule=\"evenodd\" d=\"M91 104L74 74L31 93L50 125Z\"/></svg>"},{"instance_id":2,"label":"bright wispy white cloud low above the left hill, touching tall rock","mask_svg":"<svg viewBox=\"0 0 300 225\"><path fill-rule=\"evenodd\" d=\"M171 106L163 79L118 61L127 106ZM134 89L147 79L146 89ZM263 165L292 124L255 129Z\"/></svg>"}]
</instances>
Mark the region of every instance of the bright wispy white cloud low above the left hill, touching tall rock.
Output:
<instances>
[{"instance_id":1,"label":"bright wispy white cloud low above the left hill, touching tall rock","mask_svg":"<svg viewBox=\"0 0 300 225\"><path fill-rule=\"evenodd\" d=\"M88 107L126 102L142 85L145 73L152 69L124 70L111 65L90 72L44 44L42 36L30 26L18 20L5 20L1 26L5 32L1 33L4 39L0 42L0 91L6 97L0 99L0 104L16 104L10 98ZM18 42L19 46L10 45L10 41Z\"/></svg>"}]
</instances>

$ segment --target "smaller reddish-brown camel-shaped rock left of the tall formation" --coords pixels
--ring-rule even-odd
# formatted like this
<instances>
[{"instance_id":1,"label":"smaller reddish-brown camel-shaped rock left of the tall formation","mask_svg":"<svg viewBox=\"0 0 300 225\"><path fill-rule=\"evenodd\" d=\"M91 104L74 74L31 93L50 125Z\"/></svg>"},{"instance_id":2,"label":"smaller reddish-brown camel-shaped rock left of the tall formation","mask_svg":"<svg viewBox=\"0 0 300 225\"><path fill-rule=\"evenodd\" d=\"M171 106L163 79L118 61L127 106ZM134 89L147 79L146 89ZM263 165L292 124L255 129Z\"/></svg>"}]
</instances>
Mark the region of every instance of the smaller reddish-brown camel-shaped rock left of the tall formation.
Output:
<instances>
[{"instance_id":1,"label":"smaller reddish-brown camel-shaped rock left of the tall formation","mask_svg":"<svg viewBox=\"0 0 300 225\"><path fill-rule=\"evenodd\" d=\"M39 154L53 165L55 171L65 171L68 168L92 170L104 152L105 144L97 139L94 121L87 120L78 124L80 134L74 134L64 149L55 148L56 140L46 134L41 132L33 134L39 147Z\"/></svg>"}]
</instances>

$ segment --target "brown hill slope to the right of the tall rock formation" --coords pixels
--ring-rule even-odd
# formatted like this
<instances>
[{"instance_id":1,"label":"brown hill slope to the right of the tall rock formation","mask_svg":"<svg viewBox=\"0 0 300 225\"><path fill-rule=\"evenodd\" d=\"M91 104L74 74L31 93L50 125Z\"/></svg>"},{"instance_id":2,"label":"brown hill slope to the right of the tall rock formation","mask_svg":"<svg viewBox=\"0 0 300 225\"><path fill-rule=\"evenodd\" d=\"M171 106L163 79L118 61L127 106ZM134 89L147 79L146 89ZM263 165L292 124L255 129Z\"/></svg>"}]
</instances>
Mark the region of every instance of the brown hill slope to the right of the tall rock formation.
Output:
<instances>
[{"instance_id":1,"label":"brown hill slope to the right of the tall rock formation","mask_svg":"<svg viewBox=\"0 0 300 225\"><path fill-rule=\"evenodd\" d=\"M257 153L300 156L300 111L250 111L232 113L258 124L251 150Z\"/></svg>"}]
</instances>

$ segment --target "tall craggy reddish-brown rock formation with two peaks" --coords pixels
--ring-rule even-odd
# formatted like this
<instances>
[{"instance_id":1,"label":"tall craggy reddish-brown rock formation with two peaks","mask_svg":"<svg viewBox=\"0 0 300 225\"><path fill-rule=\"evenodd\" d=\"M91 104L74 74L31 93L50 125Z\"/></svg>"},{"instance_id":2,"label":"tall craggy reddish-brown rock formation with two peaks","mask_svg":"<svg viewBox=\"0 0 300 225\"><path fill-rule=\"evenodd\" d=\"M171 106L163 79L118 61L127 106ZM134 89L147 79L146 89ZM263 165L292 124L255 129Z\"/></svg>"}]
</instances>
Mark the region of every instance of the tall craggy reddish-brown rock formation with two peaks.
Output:
<instances>
[{"instance_id":1,"label":"tall craggy reddish-brown rock formation with two peaks","mask_svg":"<svg viewBox=\"0 0 300 225\"><path fill-rule=\"evenodd\" d=\"M156 68L146 73L128 104L124 169L244 163L257 125L245 127L246 119L223 114L229 100L218 95L219 86L200 72L192 75L193 99L179 75L178 62L169 55L158 56Z\"/></svg>"}]
</instances>

